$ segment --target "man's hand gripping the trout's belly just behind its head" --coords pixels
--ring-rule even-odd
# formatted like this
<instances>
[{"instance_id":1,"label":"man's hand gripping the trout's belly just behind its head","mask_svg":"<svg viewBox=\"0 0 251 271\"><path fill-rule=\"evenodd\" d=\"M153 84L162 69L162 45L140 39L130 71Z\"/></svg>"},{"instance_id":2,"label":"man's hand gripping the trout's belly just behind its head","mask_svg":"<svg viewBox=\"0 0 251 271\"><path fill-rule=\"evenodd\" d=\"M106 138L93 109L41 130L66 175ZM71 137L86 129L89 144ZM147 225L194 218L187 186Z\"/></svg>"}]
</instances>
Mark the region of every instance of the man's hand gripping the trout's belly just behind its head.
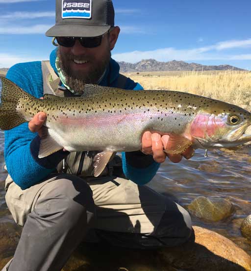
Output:
<instances>
[{"instance_id":1,"label":"man's hand gripping the trout's belly just behind its head","mask_svg":"<svg viewBox=\"0 0 251 271\"><path fill-rule=\"evenodd\" d=\"M161 136L158 133L145 132L142 137L142 152L151 154L157 163L163 163L168 157L173 163L181 161L182 156L190 159L194 155L194 149L189 147L182 154L167 154L164 149L167 146L169 135Z\"/></svg>"}]
</instances>

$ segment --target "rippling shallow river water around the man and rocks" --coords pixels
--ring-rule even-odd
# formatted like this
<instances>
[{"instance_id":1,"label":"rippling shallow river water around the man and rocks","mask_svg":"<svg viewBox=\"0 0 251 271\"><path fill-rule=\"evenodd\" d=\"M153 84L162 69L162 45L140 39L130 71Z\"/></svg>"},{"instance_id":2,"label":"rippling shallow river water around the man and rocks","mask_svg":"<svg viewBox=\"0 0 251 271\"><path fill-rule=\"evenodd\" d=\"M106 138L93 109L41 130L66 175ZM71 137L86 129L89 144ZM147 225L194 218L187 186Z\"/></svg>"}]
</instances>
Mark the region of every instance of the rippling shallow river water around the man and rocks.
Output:
<instances>
[{"instance_id":1,"label":"rippling shallow river water around the man and rocks","mask_svg":"<svg viewBox=\"0 0 251 271\"><path fill-rule=\"evenodd\" d=\"M0 260L14 254L21 229L15 225L4 200L3 158L4 136L0 131ZM242 237L240 224L251 214L251 148L213 150L204 157L196 150L190 160L178 164L166 161L150 182L154 190L176 198L187 208L196 197L226 198L234 206L234 213L221 222L205 222L192 216L193 224L214 230L243 248L251 255L251 242Z\"/></svg>"}]
</instances>

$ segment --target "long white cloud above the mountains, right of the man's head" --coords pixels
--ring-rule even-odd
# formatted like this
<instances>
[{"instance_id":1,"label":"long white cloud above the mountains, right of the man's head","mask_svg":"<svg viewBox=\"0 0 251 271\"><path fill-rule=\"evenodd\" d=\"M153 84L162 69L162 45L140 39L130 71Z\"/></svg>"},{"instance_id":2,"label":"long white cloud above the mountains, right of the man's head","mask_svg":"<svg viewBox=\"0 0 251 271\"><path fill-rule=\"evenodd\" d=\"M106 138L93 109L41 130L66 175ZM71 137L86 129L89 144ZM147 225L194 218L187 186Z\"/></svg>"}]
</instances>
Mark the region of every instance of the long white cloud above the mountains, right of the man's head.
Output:
<instances>
[{"instance_id":1,"label":"long white cloud above the mountains, right of the man's head","mask_svg":"<svg viewBox=\"0 0 251 271\"><path fill-rule=\"evenodd\" d=\"M175 49L163 48L151 51L131 51L125 53L113 54L113 58L118 61L126 61L136 63L142 59L153 58L158 61L184 60L184 61L200 61L200 60L251 60L251 54L226 54L222 51L229 48L243 48L251 46L249 40L225 41L215 45L200 47L195 49Z\"/></svg>"}]
</instances>

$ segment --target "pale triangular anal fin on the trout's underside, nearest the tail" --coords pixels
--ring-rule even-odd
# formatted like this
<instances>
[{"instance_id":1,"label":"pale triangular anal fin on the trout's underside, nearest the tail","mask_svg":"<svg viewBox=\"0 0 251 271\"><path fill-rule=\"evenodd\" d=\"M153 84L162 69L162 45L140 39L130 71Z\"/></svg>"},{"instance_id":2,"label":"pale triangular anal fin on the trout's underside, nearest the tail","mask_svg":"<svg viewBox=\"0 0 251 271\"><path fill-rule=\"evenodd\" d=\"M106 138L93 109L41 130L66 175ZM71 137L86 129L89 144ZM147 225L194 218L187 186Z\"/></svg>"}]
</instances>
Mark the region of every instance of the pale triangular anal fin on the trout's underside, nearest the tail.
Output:
<instances>
[{"instance_id":1,"label":"pale triangular anal fin on the trout's underside, nearest the tail","mask_svg":"<svg viewBox=\"0 0 251 271\"><path fill-rule=\"evenodd\" d=\"M50 154L62 149L60 146L48 133L48 128L42 127L42 137L40 141L38 158L44 158Z\"/></svg>"}]
</instances>

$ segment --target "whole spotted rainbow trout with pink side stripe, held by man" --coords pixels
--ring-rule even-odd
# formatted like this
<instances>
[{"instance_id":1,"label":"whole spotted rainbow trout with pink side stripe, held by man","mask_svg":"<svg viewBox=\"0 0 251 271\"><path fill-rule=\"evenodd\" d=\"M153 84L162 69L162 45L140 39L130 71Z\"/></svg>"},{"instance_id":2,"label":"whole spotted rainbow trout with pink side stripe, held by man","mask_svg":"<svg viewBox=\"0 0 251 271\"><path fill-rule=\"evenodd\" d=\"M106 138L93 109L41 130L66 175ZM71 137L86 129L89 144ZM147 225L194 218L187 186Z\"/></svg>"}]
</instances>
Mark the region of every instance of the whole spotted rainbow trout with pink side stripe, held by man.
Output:
<instances>
[{"instance_id":1,"label":"whole spotted rainbow trout with pink side stripe, held by man","mask_svg":"<svg viewBox=\"0 0 251 271\"><path fill-rule=\"evenodd\" d=\"M46 94L36 99L0 77L0 129L8 130L45 112L39 158L59 149L102 150L95 157L98 176L116 151L141 149L145 131L168 134L165 151L228 148L251 141L251 113L219 100L177 91L133 91L86 85L81 97Z\"/></svg>"}]
</instances>

